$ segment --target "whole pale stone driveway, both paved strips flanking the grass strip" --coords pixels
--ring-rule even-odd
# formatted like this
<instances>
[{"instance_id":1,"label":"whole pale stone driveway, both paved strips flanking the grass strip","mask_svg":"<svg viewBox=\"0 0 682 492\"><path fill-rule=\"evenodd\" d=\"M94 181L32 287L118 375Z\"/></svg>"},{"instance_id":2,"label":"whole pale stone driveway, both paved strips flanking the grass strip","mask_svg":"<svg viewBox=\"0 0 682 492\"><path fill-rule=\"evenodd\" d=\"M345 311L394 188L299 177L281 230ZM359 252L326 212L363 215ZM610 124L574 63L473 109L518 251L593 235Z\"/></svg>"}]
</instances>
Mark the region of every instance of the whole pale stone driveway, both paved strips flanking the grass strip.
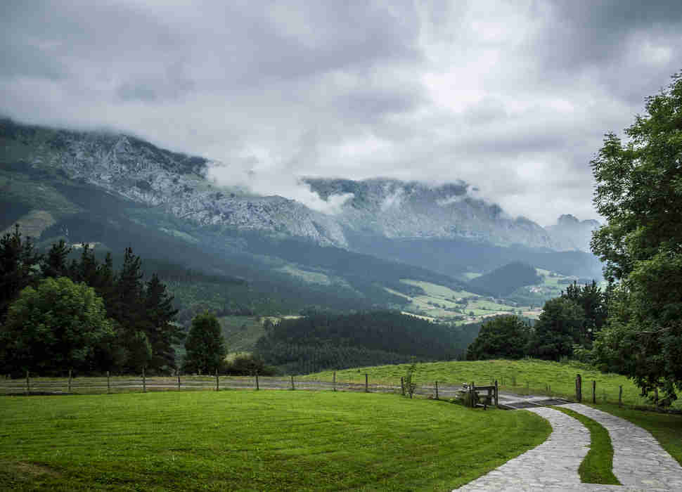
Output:
<instances>
[{"instance_id":1,"label":"whole pale stone driveway, both paved strips flanking the grass strip","mask_svg":"<svg viewBox=\"0 0 682 492\"><path fill-rule=\"evenodd\" d=\"M547 441L457 491L663 492L682 491L682 467L644 429L614 415L572 403L565 405L603 425L614 447L613 473L623 484L582 484L578 467L589 451L590 432L578 420L552 408L528 408L546 418Z\"/></svg>"}]
</instances>

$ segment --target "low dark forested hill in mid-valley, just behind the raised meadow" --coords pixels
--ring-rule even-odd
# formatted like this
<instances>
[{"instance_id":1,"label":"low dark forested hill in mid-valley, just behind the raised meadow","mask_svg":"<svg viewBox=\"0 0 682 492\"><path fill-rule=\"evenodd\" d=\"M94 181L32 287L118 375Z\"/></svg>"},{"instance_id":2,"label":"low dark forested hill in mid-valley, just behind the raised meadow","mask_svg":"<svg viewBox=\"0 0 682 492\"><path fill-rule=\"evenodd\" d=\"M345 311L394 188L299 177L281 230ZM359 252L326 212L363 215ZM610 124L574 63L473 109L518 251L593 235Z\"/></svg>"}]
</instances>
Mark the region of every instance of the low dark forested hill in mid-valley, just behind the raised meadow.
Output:
<instances>
[{"instance_id":1,"label":"low dark forested hill in mid-valley, just behind the raised meadow","mask_svg":"<svg viewBox=\"0 0 682 492\"><path fill-rule=\"evenodd\" d=\"M266 324L256 353L288 373L311 373L360 365L451 360L463 352L459 330L398 311L312 313Z\"/></svg>"}]
</instances>

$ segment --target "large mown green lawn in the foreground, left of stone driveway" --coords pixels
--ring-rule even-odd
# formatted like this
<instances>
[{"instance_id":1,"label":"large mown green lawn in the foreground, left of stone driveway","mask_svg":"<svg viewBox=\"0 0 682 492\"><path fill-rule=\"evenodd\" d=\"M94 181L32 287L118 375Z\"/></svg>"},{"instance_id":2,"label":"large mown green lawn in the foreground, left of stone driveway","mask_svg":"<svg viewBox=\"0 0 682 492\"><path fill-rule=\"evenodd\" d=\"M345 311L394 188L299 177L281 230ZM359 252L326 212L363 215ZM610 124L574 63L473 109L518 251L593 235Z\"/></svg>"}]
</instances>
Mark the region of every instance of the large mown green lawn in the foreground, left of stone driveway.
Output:
<instances>
[{"instance_id":1,"label":"large mown green lawn in the foreground, left of stone driveway","mask_svg":"<svg viewBox=\"0 0 682 492\"><path fill-rule=\"evenodd\" d=\"M393 394L0 397L2 490L447 491L541 444L529 412Z\"/></svg>"}]
</instances>

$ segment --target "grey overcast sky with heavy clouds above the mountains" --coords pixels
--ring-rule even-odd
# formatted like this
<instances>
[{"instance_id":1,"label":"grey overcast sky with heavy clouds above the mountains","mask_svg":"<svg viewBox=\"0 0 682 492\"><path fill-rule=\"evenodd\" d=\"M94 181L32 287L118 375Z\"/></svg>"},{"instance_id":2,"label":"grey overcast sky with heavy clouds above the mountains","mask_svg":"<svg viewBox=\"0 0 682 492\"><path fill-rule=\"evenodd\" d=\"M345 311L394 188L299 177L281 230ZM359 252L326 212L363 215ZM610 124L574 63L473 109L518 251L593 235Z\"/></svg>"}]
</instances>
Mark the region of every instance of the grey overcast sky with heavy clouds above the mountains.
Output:
<instances>
[{"instance_id":1,"label":"grey overcast sky with heavy clouds above the mountains","mask_svg":"<svg viewBox=\"0 0 682 492\"><path fill-rule=\"evenodd\" d=\"M599 219L589 162L682 69L682 2L3 0L0 39L17 121L330 213L301 176L463 180L551 225Z\"/></svg>"}]
</instances>

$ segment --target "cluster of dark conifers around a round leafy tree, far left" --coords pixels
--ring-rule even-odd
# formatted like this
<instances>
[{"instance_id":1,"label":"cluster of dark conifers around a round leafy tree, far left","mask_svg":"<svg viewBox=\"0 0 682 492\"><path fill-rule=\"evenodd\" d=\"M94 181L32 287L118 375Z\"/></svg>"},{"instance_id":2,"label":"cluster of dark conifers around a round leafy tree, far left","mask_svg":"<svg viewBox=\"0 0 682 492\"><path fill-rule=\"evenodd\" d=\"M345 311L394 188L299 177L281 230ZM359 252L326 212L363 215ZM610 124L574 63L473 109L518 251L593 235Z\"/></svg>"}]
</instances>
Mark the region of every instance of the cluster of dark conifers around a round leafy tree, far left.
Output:
<instances>
[{"instance_id":1,"label":"cluster of dark conifers around a round leafy tree, far left","mask_svg":"<svg viewBox=\"0 0 682 492\"><path fill-rule=\"evenodd\" d=\"M64 356L64 360L78 361L78 367L74 369L86 372L131 372L142 367L167 371L175 368L173 346L181 342L184 331L173 323L177 310L160 278L153 274L146 282L143 281L141 259L133 254L130 247L125 249L118 270L113 266L111 254L100 262L87 244L82 245L77 259L69 259L71 251L72 248L60 240L46 254L40 254L30 238L22 238L19 226L13 233L0 238L0 338L3 345L0 347L0 365L4 372L36 368L44 374L63 371L64 367L51 365L48 357L52 354L51 358L57 363L59 356L63 355L61 352L70 353ZM70 282L43 282L49 278L69 279ZM96 311L101 301L94 299L91 304L82 305L78 298L63 299L64 294L89 296L88 291L77 290L77 284L91 287L103 300L106 318L98 320L98 323L108 326L111 321L111 332L98 331L101 327L94 326L90 327L92 332L85 332L86 328L82 328L84 332L78 333L81 327L75 321L89 314L78 311ZM29 292L30 295L27 294L27 299L23 300L20 307L25 311L17 309L12 313L11 306L18 301L25 287L37 291ZM55 303L62 303L60 309L63 311L36 311L37 304L49 301L51 296ZM49 306L42 311L45 309ZM21 312L42 316L41 323L35 327L34 320L17 319ZM8 320L8 314L14 314L15 318ZM30 339L30 343L23 339L23 332L29 331L24 330L25 323L32 323L28 327L32 330L43 329L42 338ZM82 346L60 347L67 338L78 339ZM47 350L45 347L49 344ZM45 356L41 358L43 349ZM79 351L86 351L88 356L82 356Z\"/></svg>"}]
</instances>

